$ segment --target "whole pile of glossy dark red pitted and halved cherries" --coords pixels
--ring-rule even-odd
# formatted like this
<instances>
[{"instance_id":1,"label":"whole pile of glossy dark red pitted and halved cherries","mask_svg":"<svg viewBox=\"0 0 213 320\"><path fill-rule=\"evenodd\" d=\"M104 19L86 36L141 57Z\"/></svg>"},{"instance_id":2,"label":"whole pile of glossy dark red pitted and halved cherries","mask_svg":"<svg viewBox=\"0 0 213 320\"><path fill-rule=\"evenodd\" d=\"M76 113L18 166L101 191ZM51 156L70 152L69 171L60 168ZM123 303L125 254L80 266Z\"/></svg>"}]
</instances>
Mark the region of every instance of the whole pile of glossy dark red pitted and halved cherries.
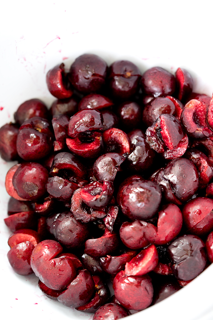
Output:
<instances>
[{"instance_id":1,"label":"whole pile of glossy dark red pitted and halved cherries","mask_svg":"<svg viewBox=\"0 0 213 320\"><path fill-rule=\"evenodd\" d=\"M50 110L28 100L0 128L2 158L18 160L8 260L67 307L128 316L213 262L213 98L185 69L141 76L93 54L49 70L47 86Z\"/></svg>"}]
</instances>

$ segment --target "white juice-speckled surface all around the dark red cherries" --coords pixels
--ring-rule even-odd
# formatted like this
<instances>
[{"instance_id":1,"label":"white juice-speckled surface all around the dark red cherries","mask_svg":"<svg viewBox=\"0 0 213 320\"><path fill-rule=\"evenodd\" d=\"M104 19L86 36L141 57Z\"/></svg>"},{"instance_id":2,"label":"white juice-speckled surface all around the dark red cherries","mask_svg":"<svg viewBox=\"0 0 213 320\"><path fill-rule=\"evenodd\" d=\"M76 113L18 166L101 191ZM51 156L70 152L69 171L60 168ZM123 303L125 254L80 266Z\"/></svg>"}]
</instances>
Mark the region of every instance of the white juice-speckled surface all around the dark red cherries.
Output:
<instances>
[{"instance_id":1,"label":"white juice-speckled surface all around the dark red cherries","mask_svg":"<svg viewBox=\"0 0 213 320\"><path fill-rule=\"evenodd\" d=\"M47 71L61 62L69 68L83 53L98 54L108 64L131 60L142 73L153 66L173 73L186 68L194 91L213 92L210 1L20 0L2 2L0 12L0 126L13 121L25 100L40 98L50 106L54 98L47 91ZM0 160L1 314L7 319L92 319L44 296L35 276L12 271L6 258L10 232L3 222L9 198L4 179L11 165ZM167 300L131 317L213 319L212 274L210 266Z\"/></svg>"}]
</instances>

